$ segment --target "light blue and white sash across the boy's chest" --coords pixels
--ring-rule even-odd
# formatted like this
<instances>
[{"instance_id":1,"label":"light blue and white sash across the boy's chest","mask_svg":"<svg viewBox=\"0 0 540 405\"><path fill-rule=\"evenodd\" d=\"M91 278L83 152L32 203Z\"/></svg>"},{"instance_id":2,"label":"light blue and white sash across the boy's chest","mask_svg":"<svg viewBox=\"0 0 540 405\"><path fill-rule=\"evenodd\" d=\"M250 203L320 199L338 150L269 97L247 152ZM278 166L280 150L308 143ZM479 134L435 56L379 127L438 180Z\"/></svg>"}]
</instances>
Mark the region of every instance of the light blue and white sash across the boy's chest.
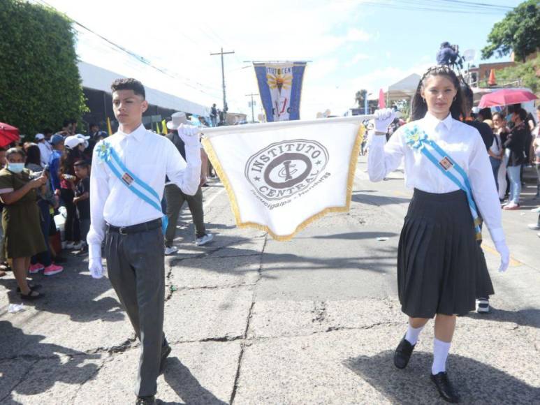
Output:
<instances>
[{"instance_id":1,"label":"light blue and white sash across the boy's chest","mask_svg":"<svg viewBox=\"0 0 540 405\"><path fill-rule=\"evenodd\" d=\"M103 163L106 163L110 168L111 172L120 180L124 186L126 186L129 191L138 196L144 202L147 202L149 205L161 212L161 198L159 198L158 193L152 189L148 184L139 179L136 175L131 172L126 165L122 163L115 149L110 145L109 142L102 141L99 145L96 146L98 158ZM166 215L163 215L161 219L161 226L163 228L163 233L167 229L168 218Z\"/></svg>"}]
</instances>

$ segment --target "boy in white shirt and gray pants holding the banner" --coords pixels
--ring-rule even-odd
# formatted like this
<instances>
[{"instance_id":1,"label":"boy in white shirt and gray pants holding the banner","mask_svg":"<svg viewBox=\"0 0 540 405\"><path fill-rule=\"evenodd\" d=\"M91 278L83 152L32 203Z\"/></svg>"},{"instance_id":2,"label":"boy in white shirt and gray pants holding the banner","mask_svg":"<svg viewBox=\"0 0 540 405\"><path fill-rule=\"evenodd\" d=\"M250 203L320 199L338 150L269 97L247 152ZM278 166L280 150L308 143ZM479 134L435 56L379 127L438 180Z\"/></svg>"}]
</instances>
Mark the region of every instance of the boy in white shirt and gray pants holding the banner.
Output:
<instances>
[{"instance_id":1,"label":"boy in white shirt and gray pants holding the banner","mask_svg":"<svg viewBox=\"0 0 540 405\"><path fill-rule=\"evenodd\" d=\"M178 128L186 145L186 163L170 140L143 126L143 112L148 108L143 84L119 79L111 90L119 130L94 148L89 270L92 277L102 277L101 242L105 239L110 282L140 340L136 404L155 404L156 379L171 350L163 334L165 263L159 202L166 176L188 195L198 190L198 129ZM105 153L112 149L117 159ZM150 199L140 198L133 192L136 189Z\"/></svg>"}]
</instances>

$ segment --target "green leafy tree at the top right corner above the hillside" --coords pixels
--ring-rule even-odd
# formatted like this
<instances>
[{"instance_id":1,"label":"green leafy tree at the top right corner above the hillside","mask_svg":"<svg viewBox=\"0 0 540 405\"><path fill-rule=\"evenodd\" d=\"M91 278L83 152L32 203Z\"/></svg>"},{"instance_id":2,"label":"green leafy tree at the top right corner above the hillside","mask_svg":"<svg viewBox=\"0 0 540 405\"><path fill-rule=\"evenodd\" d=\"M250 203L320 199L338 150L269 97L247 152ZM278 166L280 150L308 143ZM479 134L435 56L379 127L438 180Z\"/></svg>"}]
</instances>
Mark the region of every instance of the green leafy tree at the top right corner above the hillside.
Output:
<instances>
[{"instance_id":1,"label":"green leafy tree at the top right corner above the hillside","mask_svg":"<svg viewBox=\"0 0 540 405\"><path fill-rule=\"evenodd\" d=\"M488 45L482 50L483 59L497 52L497 57L514 52L516 61L525 61L527 55L540 48L540 1L527 0L506 13L488 36Z\"/></svg>"}]
</instances>

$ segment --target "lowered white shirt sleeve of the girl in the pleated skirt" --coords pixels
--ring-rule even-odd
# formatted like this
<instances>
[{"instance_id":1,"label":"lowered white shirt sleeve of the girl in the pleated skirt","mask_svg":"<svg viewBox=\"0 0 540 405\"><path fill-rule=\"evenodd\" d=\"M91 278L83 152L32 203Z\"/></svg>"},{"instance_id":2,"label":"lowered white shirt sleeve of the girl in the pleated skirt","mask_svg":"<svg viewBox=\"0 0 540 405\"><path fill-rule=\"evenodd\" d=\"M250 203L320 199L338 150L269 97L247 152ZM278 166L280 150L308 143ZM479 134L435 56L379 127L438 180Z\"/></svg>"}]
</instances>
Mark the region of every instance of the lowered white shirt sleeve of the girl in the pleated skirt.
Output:
<instances>
[{"instance_id":1,"label":"lowered white shirt sleeve of the girl in the pleated skirt","mask_svg":"<svg viewBox=\"0 0 540 405\"><path fill-rule=\"evenodd\" d=\"M476 137L469 158L469 180L472 187L472 196L483 221L488 226L492 241L504 240L499 193L497 193L493 170L480 136Z\"/></svg>"}]
</instances>

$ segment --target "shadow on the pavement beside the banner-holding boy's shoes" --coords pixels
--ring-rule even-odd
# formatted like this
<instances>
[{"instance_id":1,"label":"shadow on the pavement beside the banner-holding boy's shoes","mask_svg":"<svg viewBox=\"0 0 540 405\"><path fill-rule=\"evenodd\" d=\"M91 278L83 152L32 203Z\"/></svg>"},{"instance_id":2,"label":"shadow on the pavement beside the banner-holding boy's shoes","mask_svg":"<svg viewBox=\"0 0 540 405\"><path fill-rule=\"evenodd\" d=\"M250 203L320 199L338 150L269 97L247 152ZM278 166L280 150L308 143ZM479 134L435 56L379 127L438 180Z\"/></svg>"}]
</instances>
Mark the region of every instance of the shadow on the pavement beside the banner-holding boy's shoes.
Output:
<instances>
[{"instance_id":1,"label":"shadow on the pavement beside the banner-holding boy's shoes","mask_svg":"<svg viewBox=\"0 0 540 405\"><path fill-rule=\"evenodd\" d=\"M204 388L197 379L191 374L191 371L178 360L178 358L168 358L167 368L163 373L163 378L170 388L176 392L178 397L184 402L162 402L163 405L180 404L208 404L208 405L226 405L226 402L216 398L212 392Z\"/></svg>"}]
</instances>

